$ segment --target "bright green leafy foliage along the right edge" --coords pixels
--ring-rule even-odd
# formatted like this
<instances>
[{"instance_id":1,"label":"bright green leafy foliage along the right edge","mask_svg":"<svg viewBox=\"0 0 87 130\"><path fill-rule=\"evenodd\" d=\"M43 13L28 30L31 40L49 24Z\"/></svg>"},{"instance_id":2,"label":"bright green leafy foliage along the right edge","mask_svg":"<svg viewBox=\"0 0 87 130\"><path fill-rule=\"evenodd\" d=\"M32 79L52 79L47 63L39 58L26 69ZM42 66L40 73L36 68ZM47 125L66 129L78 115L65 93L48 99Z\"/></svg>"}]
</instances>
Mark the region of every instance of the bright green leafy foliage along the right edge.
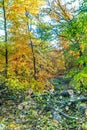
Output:
<instances>
[{"instance_id":1,"label":"bright green leafy foliage along the right edge","mask_svg":"<svg viewBox=\"0 0 87 130\"><path fill-rule=\"evenodd\" d=\"M65 23L61 35L68 42L68 49L64 48L65 63L68 70L67 77L71 77L71 84L81 91L87 88L87 13L80 12L78 17ZM66 44L66 43L65 43Z\"/></svg>"}]
</instances>

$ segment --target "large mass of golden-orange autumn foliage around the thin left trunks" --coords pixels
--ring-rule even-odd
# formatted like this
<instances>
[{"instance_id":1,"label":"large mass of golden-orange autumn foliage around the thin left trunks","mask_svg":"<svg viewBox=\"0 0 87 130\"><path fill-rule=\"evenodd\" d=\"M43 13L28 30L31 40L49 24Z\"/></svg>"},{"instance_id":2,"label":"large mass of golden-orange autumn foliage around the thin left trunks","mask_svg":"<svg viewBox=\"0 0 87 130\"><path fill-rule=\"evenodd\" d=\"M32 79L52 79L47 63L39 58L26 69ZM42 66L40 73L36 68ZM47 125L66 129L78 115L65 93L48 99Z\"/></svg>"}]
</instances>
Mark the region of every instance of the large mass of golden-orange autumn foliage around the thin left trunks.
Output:
<instances>
[{"instance_id":1,"label":"large mass of golden-orange autumn foliage around the thin left trunks","mask_svg":"<svg viewBox=\"0 0 87 130\"><path fill-rule=\"evenodd\" d=\"M47 42L42 43L42 48L40 47L42 41L35 39L34 34L29 31L29 19L25 14L28 12L31 16L36 16L39 8L45 4L44 0L5 0L4 2L6 21L9 23L8 39L11 41L10 45L12 45L9 48L9 44L6 44L5 48L1 48L4 52L4 56L1 56L2 58L0 59L2 63L0 64L1 71L4 70L6 65L5 50L6 48L8 49L7 86L12 90L29 87L35 91L43 91L44 88L50 88L51 85L47 79L50 78L53 73L57 73L58 65L62 66L62 68L64 65L61 64L61 60L57 61L54 60L54 58L59 58L59 55L61 55L60 57L62 60L64 60L64 58L58 50L56 50L56 52L59 53L58 56L57 53L52 53L52 56L48 54L47 46L49 43ZM57 18L57 16L55 17ZM32 21L30 21L30 24L32 24ZM44 28L45 26L43 24L43 29ZM30 44L31 41L33 51ZM33 79L34 60L37 80ZM54 69L54 64L56 69Z\"/></svg>"}]
</instances>

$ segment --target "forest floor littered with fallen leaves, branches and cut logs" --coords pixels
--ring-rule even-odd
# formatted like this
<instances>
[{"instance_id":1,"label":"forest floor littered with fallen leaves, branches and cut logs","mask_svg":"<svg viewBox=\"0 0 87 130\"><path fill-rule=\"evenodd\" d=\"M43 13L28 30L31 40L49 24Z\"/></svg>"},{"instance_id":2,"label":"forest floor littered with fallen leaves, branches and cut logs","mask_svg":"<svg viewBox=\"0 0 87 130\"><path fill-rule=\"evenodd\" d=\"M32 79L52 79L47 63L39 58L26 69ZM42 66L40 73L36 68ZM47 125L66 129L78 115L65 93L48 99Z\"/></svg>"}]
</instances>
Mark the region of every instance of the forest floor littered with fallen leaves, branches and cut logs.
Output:
<instances>
[{"instance_id":1,"label":"forest floor littered with fallen leaves, branches and cut logs","mask_svg":"<svg viewBox=\"0 0 87 130\"><path fill-rule=\"evenodd\" d=\"M0 130L87 130L87 93L55 78L50 91L22 95L1 93ZM5 95L5 96L4 96Z\"/></svg>"}]
</instances>

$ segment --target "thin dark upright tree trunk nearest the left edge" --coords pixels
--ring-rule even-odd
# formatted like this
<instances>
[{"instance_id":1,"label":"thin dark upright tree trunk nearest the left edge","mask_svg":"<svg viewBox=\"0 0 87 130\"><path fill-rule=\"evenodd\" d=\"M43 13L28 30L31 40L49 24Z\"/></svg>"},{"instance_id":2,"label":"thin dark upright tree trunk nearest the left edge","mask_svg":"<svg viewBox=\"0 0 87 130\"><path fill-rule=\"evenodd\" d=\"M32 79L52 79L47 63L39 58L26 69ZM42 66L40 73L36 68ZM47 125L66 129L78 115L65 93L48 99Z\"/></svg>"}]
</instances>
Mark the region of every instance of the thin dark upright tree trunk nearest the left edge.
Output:
<instances>
[{"instance_id":1,"label":"thin dark upright tree trunk nearest the left edge","mask_svg":"<svg viewBox=\"0 0 87 130\"><path fill-rule=\"evenodd\" d=\"M5 43L6 43L6 48L5 48L5 76L7 78L7 72L8 72L8 48L7 48L7 23L6 23L6 9L5 9L5 3L3 0L3 14L4 14L4 31L5 31Z\"/></svg>"}]
</instances>

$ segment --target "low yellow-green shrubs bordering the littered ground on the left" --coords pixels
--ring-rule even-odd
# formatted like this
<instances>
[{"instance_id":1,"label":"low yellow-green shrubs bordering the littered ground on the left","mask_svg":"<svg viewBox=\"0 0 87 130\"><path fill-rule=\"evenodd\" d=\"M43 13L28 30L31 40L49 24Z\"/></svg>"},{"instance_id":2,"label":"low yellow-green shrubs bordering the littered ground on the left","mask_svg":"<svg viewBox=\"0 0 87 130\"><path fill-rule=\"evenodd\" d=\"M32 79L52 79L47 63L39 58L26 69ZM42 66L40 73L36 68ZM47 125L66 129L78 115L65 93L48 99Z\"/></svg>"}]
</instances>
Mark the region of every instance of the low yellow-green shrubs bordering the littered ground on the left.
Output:
<instances>
[{"instance_id":1,"label":"low yellow-green shrubs bordering the littered ground on the left","mask_svg":"<svg viewBox=\"0 0 87 130\"><path fill-rule=\"evenodd\" d=\"M3 79L4 80L4 79ZM31 79L30 82L20 81L18 77L13 76L13 78L8 78L6 82L6 86L8 86L9 90L11 90L14 94L19 93L21 91L28 91L30 88L34 92L42 92L44 89L44 83L37 81L35 79Z\"/></svg>"}]
</instances>

